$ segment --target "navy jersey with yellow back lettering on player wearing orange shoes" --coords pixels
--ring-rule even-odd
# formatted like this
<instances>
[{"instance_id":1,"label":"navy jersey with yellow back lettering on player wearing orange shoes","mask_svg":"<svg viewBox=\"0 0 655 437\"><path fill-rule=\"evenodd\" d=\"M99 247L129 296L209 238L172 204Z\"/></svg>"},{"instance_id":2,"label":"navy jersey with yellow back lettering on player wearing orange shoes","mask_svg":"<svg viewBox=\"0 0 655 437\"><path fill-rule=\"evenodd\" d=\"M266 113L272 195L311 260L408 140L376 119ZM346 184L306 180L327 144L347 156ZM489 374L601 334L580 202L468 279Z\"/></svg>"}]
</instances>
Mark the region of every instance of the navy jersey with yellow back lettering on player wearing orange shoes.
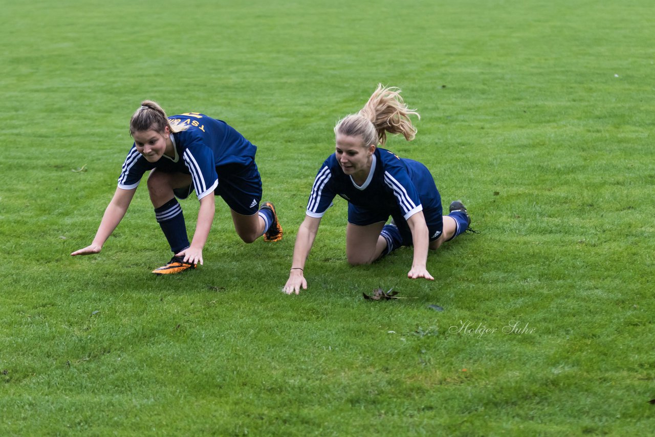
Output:
<instances>
[{"instance_id":1,"label":"navy jersey with yellow back lettering on player wearing orange shoes","mask_svg":"<svg viewBox=\"0 0 655 437\"><path fill-rule=\"evenodd\" d=\"M196 195L202 199L218 185L217 167L247 166L254 162L257 147L224 121L200 113L173 115L168 119L172 124L188 125L186 130L170 136L175 157L164 155L157 162L148 162L133 143L122 165L119 188L134 189L145 172L160 168L165 172L190 174Z\"/></svg>"}]
</instances>

